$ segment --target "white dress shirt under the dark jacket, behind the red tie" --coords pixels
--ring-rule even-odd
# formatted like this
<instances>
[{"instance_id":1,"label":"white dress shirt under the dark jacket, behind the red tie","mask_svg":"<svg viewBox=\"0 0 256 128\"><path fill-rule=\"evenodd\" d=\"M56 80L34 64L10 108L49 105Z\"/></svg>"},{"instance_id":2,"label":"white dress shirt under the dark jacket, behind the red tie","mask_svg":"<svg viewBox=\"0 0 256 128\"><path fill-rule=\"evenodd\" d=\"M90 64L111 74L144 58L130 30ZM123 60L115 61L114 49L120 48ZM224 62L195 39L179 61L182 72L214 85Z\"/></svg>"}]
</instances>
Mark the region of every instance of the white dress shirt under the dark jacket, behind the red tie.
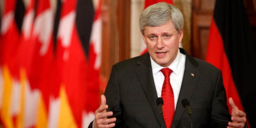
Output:
<instances>
[{"instance_id":1,"label":"white dress shirt under the dark jacket, behind the red tie","mask_svg":"<svg viewBox=\"0 0 256 128\"><path fill-rule=\"evenodd\" d=\"M161 97L161 91L163 87L163 82L165 80L165 76L160 70L165 67L158 65L156 62L153 61L151 57L150 57L150 60L151 60L154 83L156 86L156 93L158 97ZM171 82L171 87L174 91L175 109L176 109L176 104L178 101L178 96L180 93L180 87L181 87L182 78L184 74L185 61L186 61L186 56L180 53L180 50L179 50L174 62L172 62L171 65L168 66L168 68L170 68L173 71L170 75L170 82Z\"/></svg>"}]
</instances>

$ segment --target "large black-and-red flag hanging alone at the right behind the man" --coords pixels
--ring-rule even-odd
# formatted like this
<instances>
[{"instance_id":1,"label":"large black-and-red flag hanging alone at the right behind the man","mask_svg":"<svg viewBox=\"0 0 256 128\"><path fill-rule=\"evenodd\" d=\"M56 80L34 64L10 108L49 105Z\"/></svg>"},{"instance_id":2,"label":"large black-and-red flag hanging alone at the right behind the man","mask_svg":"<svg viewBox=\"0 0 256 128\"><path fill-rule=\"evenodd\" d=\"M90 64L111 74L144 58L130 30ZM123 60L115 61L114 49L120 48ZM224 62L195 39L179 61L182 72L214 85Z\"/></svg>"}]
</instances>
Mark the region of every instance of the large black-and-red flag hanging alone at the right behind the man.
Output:
<instances>
[{"instance_id":1,"label":"large black-and-red flag hanging alone at the right behind the man","mask_svg":"<svg viewBox=\"0 0 256 128\"><path fill-rule=\"evenodd\" d=\"M256 127L252 105L256 99L255 56L256 43L243 0L216 0L206 61L221 69L227 98L232 97L245 111L252 128Z\"/></svg>"}]
</instances>

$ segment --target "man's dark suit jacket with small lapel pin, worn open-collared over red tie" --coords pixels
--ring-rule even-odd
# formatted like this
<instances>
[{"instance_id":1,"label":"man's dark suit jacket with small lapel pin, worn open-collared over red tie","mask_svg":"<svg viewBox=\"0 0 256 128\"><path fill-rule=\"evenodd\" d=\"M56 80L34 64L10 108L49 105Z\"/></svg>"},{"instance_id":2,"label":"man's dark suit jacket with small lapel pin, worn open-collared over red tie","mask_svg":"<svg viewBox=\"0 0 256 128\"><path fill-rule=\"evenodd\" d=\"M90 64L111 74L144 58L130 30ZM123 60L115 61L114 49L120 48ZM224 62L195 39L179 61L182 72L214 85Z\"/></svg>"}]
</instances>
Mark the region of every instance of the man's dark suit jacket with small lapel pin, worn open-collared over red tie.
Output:
<instances>
[{"instance_id":1,"label":"man's dark suit jacket with small lapel pin, worn open-collared over red tie","mask_svg":"<svg viewBox=\"0 0 256 128\"><path fill-rule=\"evenodd\" d=\"M194 128L226 128L230 115L221 71L182 48L180 52L186 55L186 63L172 128L190 128L181 103L185 98L190 102ZM113 65L104 95L108 111L117 118L117 128L161 128L148 53Z\"/></svg>"}]
</instances>

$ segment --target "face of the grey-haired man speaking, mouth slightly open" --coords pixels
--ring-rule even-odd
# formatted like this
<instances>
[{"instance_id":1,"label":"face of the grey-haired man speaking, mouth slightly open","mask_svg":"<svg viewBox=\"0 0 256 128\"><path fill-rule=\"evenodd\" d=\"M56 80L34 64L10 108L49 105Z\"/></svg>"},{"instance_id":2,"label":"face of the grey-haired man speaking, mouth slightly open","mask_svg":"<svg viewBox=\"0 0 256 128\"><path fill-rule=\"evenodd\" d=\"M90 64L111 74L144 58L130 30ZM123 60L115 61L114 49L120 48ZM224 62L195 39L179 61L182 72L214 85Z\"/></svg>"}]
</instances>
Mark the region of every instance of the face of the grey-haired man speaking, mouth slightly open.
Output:
<instances>
[{"instance_id":1,"label":"face of the grey-haired man speaking, mouth slightly open","mask_svg":"<svg viewBox=\"0 0 256 128\"><path fill-rule=\"evenodd\" d=\"M171 21L157 27L145 27L143 40L152 59L163 67L169 66L178 54L183 29L178 31Z\"/></svg>"}]
</instances>

